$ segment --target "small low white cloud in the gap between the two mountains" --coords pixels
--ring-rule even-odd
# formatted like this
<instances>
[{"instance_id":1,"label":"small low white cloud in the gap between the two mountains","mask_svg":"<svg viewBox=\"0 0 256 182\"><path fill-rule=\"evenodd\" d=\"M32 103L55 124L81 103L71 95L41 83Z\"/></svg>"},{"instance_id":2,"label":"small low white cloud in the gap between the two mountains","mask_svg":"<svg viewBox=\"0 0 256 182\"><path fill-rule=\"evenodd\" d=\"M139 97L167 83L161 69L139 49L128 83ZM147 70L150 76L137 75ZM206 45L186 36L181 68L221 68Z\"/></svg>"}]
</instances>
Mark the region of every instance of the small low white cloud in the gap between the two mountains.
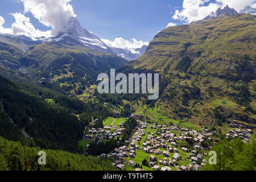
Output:
<instances>
[{"instance_id":1,"label":"small low white cloud in the gap between the two mountains","mask_svg":"<svg viewBox=\"0 0 256 182\"><path fill-rule=\"evenodd\" d=\"M114 48L127 48L130 51L136 48L141 48L142 46L148 46L148 42L138 41L136 39L131 40L125 40L123 38L115 38L114 41L108 40L108 39L101 39L102 42L104 42L109 47Z\"/></svg>"}]
</instances>

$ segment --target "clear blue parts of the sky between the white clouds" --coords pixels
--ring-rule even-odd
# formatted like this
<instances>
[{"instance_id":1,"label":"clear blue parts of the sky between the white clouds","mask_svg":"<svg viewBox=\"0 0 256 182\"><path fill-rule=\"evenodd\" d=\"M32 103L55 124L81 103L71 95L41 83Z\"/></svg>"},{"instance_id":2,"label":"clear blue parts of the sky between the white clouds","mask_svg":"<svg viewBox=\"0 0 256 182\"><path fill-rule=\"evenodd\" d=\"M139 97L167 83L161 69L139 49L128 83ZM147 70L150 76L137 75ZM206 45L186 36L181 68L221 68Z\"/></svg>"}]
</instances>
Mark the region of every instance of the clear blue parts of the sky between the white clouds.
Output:
<instances>
[{"instance_id":1,"label":"clear blue parts of the sky between the white clouds","mask_svg":"<svg viewBox=\"0 0 256 182\"><path fill-rule=\"evenodd\" d=\"M170 22L181 23L172 19L175 6L182 7L182 1L168 0L73 0L73 6L81 26L92 31L100 38L114 40L135 38L150 41L159 30ZM4 27L11 27L14 17L10 13L23 13L23 4L18 0L1 0L0 16L5 19ZM26 14L34 27L51 30L44 26L31 13Z\"/></svg>"}]
</instances>

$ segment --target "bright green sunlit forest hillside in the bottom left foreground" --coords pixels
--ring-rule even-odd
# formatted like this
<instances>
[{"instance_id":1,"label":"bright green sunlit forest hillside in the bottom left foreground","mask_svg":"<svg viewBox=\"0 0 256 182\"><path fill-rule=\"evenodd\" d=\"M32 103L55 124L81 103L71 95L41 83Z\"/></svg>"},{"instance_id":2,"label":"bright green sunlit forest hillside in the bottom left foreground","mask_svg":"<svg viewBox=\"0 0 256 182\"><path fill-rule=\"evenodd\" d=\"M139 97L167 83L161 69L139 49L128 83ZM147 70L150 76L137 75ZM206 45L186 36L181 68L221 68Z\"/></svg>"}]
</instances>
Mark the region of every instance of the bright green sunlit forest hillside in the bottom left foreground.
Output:
<instances>
[{"instance_id":1,"label":"bright green sunlit forest hillside in the bottom left foreground","mask_svg":"<svg viewBox=\"0 0 256 182\"><path fill-rule=\"evenodd\" d=\"M42 148L22 146L0 137L0 171L97 171L116 170L107 160L61 150L46 152L46 165L38 164L38 152Z\"/></svg>"}]
</instances>

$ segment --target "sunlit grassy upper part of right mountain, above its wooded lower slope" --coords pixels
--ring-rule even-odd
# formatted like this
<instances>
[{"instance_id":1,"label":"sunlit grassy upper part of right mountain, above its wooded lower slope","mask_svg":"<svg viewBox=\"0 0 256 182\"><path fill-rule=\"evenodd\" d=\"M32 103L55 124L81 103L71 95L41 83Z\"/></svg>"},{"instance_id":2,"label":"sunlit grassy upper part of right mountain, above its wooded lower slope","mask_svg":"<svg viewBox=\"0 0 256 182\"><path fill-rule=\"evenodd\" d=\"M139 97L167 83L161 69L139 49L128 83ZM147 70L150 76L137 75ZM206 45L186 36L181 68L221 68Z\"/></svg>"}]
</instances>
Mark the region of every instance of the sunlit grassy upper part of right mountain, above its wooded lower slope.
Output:
<instances>
[{"instance_id":1,"label":"sunlit grassy upper part of right mountain, above its wooded lower slope","mask_svg":"<svg viewBox=\"0 0 256 182\"><path fill-rule=\"evenodd\" d=\"M134 61L134 68L201 74L255 75L255 15L221 15L159 32L146 53ZM189 60L179 64L183 57ZM188 63L187 63L188 62ZM246 67L246 68L241 68ZM242 69L249 69L241 73Z\"/></svg>"}]
</instances>

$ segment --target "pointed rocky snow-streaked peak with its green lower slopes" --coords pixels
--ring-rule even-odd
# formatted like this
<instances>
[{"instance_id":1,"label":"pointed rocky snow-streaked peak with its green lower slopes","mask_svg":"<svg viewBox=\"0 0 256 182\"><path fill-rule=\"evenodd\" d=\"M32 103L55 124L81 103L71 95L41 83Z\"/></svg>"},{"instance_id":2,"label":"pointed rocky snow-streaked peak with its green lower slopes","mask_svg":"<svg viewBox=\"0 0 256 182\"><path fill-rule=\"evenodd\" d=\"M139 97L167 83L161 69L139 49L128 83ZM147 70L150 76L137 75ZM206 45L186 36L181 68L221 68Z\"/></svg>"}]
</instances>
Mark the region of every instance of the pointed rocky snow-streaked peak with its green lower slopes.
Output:
<instances>
[{"instance_id":1,"label":"pointed rocky snow-streaked peak with its green lower slopes","mask_svg":"<svg viewBox=\"0 0 256 182\"><path fill-rule=\"evenodd\" d=\"M126 63L76 18L55 38L0 35L0 67L65 94L82 93L98 74Z\"/></svg>"}]
</instances>

